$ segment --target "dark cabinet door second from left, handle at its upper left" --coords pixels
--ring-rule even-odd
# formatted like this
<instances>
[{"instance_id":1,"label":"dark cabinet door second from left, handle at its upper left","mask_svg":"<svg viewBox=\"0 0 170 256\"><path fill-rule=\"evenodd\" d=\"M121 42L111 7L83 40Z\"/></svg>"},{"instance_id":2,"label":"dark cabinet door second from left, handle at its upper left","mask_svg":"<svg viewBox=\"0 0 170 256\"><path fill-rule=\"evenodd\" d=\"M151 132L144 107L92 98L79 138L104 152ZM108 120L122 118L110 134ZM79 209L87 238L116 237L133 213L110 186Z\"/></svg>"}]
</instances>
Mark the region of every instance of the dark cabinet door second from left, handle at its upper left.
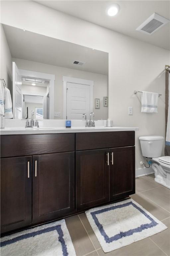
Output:
<instances>
[{"instance_id":1,"label":"dark cabinet door second from left, handle at its upper left","mask_svg":"<svg viewBox=\"0 0 170 256\"><path fill-rule=\"evenodd\" d=\"M33 156L33 223L74 210L74 152Z\"/></svg>"}]
</instances>

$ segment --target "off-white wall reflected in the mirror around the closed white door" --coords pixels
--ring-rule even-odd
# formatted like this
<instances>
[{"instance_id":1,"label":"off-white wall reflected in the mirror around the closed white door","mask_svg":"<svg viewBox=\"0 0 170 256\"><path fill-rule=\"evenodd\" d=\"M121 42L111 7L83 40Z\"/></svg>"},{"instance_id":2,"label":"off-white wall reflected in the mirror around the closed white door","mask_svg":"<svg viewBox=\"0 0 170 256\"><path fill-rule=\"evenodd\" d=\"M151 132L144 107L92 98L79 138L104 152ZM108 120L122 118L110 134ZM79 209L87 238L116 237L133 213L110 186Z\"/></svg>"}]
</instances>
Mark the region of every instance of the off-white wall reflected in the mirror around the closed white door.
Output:
<instances>
[{"instance_id":1,"label":"off-white wall reflected in the mirror around the closed white door","mask_svg":"<svg viewBox=\"0 0 170 256\"><path fill-rule=\"evenodd\" d=\"M95 114L95 119L108 119L108 108L103 107L103 97L108 96L108 76L22 59L12 58L12 61L15 61L19 69L26 69L55 75L54 112L61 112L61 117L54 119L63 118L63 76L93 80L93 98L100 98L100 109L95 109L93 100L93 112Z\"/></svg>"}]
</instances>

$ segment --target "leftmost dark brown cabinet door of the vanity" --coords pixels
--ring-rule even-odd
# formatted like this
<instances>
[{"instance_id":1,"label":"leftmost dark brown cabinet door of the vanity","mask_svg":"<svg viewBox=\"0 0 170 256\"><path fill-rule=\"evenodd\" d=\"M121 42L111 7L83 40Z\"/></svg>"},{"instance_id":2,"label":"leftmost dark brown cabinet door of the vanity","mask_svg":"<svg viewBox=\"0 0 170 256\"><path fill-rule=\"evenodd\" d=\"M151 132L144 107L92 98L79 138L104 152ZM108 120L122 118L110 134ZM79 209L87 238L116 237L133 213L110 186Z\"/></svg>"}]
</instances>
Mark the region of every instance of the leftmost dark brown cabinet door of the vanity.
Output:
<instances>
[{"instance_id":1,"label":"leftmost dark brown cabinet door of the vanity","mask_svg":"<svg viewBox=\"0 0 170 256\"><path fill-rule=\"evenodd\" d=\"M31 156L1 158L1 232L31 223Z\"/></svg>"}]
</instances>

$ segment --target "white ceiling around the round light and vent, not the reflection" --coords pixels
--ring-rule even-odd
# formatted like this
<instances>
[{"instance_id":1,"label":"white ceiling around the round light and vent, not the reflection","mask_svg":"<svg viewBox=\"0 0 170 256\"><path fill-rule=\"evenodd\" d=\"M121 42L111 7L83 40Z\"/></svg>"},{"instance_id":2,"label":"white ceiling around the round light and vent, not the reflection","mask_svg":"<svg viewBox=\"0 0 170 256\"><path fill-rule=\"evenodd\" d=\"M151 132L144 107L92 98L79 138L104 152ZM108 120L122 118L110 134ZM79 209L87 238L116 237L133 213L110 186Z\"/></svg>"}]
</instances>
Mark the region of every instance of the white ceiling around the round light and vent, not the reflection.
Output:
<instances>
[{"instance_id":1,"label":"white ceiling around the round light and vent, not the reflection","mask_svg":"<svg viewBox=\"0 0 170 256\"><path fill-rule=\"evenodd\" d=\"M137 38L147 43L170 49L170 24L168 23L152 35L145 35L135 29L154 12L170 19L170 1L36 1L47 7L67 13L77 18L95 23L105 28ZM120 12L110 17L106 8L118 3Z\"/></svg>"}]
</instances>

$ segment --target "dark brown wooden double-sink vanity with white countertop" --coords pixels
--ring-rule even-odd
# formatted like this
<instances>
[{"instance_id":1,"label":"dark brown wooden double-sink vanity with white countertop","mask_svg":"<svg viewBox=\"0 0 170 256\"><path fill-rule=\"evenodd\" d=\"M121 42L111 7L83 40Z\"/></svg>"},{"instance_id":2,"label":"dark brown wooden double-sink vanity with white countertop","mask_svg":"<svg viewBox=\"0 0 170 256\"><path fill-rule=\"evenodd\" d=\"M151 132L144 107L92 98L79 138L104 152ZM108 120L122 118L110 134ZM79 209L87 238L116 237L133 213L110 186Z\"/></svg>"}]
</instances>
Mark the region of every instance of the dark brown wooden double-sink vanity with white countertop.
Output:
<instances>
[{"instance_id":1,"label":"dark brown wooden double-sink vanity with white countertop","mask_svg":"<svg viewBox=\"0 0 170 256\"><path fill-rule=\"evenodd\" d=\"M1 234L134 194L134 130L2 133Z\"/></svg>"}]
</instances>

